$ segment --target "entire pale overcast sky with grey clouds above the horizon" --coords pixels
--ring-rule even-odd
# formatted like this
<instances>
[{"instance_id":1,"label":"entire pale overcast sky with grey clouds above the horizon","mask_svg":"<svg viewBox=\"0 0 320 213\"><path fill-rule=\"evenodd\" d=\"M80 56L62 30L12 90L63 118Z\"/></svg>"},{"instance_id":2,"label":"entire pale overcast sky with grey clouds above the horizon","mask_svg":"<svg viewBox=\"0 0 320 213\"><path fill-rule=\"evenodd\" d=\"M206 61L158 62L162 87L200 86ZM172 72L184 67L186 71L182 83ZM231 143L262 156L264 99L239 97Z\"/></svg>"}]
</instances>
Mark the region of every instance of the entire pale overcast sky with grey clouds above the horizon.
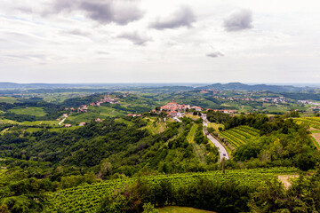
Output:
<instances>
[{"instance_id":1,"label":"entire pale overcast sky with grey clouds above the horizon","mask_svg":"<svg viewBox=\"0 0 320 213\"><path fill-rule=\"evenodd\" d=\"M317 0L1 0L0 82L320 83Z\"/></svg>"}]
</instances>

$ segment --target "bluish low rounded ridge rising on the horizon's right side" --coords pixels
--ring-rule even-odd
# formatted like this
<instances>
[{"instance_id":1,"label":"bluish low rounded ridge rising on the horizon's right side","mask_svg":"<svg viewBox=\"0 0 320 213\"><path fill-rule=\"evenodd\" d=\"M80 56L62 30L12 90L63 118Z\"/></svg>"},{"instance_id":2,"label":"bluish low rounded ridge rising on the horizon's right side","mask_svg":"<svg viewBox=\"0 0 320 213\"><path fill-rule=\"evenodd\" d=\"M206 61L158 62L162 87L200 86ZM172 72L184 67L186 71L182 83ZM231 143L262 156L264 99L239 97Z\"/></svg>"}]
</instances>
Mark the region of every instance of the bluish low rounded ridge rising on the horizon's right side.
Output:
<instances>
[{"instance_id":1,"label":"bluish low rounded ridge rising on the horizon's right side","mask_svg":"<svg viewBox=\"0 0 320 213\"><path fill-rule=\"evenodd\" d=\"M316 88L313 87L295 87L290 85L267 85L267 84L255 84L249 85L244 83L214 83L198 89L212 89L212 90L232 90L232 91L313 91Z\"/></svg>"}]
</instances>

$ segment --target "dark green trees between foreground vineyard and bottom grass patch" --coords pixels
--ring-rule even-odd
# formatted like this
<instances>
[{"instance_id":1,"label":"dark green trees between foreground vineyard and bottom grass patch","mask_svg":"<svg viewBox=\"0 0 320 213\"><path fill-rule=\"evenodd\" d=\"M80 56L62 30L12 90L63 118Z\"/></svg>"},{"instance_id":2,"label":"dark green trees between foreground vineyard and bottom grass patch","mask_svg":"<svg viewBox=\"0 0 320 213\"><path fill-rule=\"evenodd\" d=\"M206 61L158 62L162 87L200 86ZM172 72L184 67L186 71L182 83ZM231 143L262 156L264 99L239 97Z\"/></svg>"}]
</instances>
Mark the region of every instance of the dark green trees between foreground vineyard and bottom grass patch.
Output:
<instances>
[{"instance_id":1,"label":"dark green trees between foreground vineyard and bottom grass patch","mask_svg":"<svg viewBox=\"0 0 320 213\"><path fill-rule=\"evenodd\" d=\"M217 212L248 211L247 202L253 187L236 182L218 182L199 178L192 183L172 185L166 180L149 183L140 179L136 183L106 194L100 201L98 212L142 212L143 206L184 206Z\"/></svg>"}]
</instances>

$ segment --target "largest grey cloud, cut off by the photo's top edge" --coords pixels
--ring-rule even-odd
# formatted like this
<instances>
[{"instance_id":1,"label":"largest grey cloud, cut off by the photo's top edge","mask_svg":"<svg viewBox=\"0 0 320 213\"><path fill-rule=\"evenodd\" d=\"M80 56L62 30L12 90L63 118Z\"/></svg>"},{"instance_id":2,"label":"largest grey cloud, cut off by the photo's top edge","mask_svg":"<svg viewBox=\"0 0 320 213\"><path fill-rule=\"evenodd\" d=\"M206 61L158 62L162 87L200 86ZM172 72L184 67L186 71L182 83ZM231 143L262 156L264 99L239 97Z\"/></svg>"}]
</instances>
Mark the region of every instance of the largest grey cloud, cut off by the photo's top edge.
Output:
<instances>
[{"instance_id":1,"label":"largest grey cloud, cut off by the photo's top edge","mask_svg":"<svg viewBox=\"0 0 320 213\"><path fill-rule=\"evenodd\" d=\"M86 17L101 24L114 22L118 25L140 20L144 14L136 2L130 0L55 0L52 6L52 12L75 11L84 12Z\"/></svg>"}]
</instances>

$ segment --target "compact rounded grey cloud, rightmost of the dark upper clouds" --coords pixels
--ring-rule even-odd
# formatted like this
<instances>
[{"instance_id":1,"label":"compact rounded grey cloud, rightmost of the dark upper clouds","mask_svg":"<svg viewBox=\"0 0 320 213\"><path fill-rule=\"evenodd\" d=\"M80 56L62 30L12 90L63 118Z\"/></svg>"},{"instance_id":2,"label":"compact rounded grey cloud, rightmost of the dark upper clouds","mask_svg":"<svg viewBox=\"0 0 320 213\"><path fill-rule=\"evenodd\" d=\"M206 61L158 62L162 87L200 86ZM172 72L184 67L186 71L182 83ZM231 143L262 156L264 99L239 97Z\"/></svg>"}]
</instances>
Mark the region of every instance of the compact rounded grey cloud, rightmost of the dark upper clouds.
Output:
<instances>
[{"instance_id":1,"label":"compact rounded grey cloud, rightmost of the dark upper clouds","mask_svg":"<svg viewBox=\"0 0 320 213\"><path fill-rule=\"evenodd\" d=\"M229 15L223 21L223 27L227 31L239 31L252 26L252 12L250 10L240 10Z\"/></svg>"}]
</instances>

